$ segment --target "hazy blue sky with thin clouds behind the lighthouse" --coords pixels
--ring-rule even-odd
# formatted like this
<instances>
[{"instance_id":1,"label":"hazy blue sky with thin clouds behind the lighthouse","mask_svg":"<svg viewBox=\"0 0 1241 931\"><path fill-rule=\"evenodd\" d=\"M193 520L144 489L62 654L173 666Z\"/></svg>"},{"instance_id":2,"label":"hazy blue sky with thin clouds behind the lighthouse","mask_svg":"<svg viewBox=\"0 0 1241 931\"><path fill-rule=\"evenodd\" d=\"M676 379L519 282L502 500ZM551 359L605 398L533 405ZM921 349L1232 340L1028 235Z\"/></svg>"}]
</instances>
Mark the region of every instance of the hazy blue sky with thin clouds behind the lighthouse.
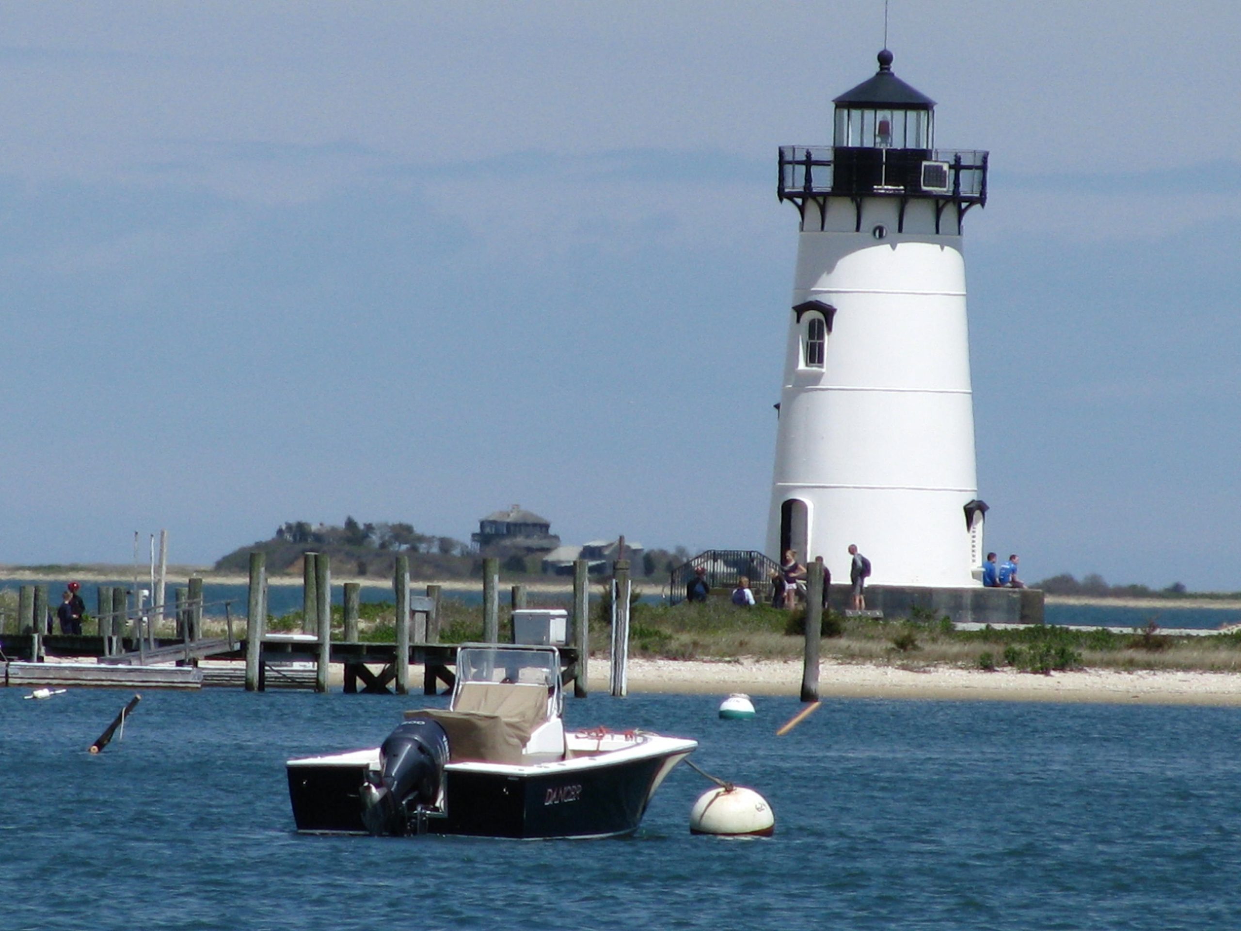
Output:
<instances>
[{"instance_id":1,"label":"hazy blue sky with thin clouds behind the lighthouse","mask_svg":"<svg viewBox=\"0 0 1241 931\"><path fill-rule=\"evenodd\" d=\"M1123 14L1123 15L1121 15ZM895 0L989 549L1241 588L1241 7ZM0 562L284 520L761 547L795 212L882 2L10 5Z\"/></svg>"}]
</instances>

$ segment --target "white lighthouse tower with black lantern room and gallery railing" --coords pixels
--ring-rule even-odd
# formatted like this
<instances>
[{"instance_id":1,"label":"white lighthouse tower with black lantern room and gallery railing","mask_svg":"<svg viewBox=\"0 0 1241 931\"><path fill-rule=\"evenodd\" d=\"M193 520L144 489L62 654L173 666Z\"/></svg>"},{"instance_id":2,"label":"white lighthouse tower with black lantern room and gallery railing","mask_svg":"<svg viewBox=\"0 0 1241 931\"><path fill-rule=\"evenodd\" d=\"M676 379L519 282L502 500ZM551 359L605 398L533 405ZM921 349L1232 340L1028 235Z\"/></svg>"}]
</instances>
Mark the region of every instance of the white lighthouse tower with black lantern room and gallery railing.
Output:
<instances>
[{"instance_id":1,"label":"white lighthouse tower with black lantern room and gallery railing","mask_svg":"<svg viewBox=\"0 0 1241 931\"><path fill-rule=\"evenodd\" d=\"M962 221L987 153L934 148L934 101L879 72L835 98L831 145L779 150L800 215L767 551L871 582L978 586L982 523Z\"/></svg>"}]
</instances>

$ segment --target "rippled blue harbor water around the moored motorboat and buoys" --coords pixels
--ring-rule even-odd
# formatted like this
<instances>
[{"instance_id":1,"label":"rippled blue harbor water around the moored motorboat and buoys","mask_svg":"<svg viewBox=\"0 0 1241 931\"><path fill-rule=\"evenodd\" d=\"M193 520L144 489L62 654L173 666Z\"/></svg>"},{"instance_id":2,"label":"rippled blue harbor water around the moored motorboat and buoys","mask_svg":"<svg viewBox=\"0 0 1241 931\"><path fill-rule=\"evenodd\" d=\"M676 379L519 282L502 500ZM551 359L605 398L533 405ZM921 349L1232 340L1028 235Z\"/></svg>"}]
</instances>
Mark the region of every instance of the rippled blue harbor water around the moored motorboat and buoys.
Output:
<instances>
[{"instance_id":1,"label":"rippled blue harbor water around the moored motorboat and buoys","mask_svg":"<svg viewBox=\"0 0 1241 931\"><path fill-rule=\"evenodd\" d=\"M776 835L689 834L679 767L628 839L313 837L289 756L374 745L442 698L0 689L2 926L1203 929L1241 915L1241 709L592 695L571 726L691 736Z\"/></svg>"}]
</instances>

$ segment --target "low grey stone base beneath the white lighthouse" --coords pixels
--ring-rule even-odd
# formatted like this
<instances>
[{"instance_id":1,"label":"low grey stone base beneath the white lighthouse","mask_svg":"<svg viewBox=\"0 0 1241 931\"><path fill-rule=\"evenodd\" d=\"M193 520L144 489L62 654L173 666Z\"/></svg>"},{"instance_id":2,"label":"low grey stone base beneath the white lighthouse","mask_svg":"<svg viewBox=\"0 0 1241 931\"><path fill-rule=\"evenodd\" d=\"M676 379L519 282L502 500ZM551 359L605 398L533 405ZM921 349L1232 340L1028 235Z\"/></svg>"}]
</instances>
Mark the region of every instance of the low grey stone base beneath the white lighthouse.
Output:
<instances>
[{"instance_id":1,"label":"low grey stone base beneath the white lighthouse","mask_svg":"<svg viewBox=\"0 0 1241 931\"><path fill-rule=\"evenodd\" d=\"M848 585L831 585L833 611L851 607ZM958 624L1041 624L1042 592L1037 588L931 588L907 585L866 586L866 608L886 618L910 617L913 608L947 614Z\"/></svg>"}]
</instances>

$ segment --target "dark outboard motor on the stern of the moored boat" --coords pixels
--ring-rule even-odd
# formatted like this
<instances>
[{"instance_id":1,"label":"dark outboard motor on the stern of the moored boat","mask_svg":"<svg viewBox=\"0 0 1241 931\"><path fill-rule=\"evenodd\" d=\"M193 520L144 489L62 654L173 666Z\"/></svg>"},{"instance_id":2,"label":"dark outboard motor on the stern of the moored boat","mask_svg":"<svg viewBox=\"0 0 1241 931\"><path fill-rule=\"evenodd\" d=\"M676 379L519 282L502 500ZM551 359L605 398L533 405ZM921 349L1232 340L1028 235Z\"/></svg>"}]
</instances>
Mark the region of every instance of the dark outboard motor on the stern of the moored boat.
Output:
<instances>
[{"instance_id":1,"label":"dark outboard motor on the stern of the moored boat","mask_svg":"<svg viewBox=\"0 0 1241 931\"><path fill-rule=\"evenodd\" d=\"M380 747L380 781L362 785L362 822L371 834L410 833L410 816L439 798L448 735L431 717L411 717Z\"/></svg>"}]
</instances>

